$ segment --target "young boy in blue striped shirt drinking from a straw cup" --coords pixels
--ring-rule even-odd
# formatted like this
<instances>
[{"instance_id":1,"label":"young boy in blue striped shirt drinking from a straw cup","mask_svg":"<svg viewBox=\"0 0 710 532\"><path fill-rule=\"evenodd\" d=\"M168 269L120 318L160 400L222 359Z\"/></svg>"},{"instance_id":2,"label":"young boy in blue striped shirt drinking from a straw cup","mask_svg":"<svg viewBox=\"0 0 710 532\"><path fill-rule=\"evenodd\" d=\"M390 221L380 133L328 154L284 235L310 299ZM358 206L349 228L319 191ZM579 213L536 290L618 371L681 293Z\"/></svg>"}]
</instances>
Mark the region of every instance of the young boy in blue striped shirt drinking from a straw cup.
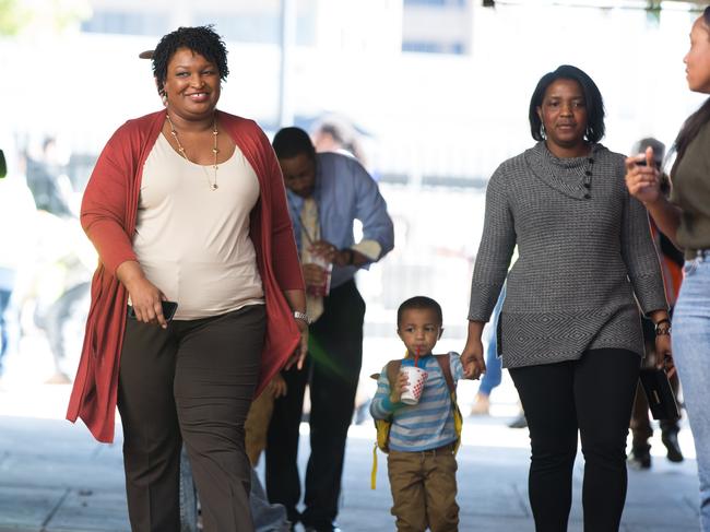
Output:
<instances>
[{"instance_id":1,"label":"young boy in blue striped shirt drinking from a straw cup","mask_svg":"<svg viewBox=\"0 0 710 532\"><path fill-rule=\"evenodd\" d=\"M414 365L418 352L417 366L428 377L418 403L403 404L401 395L407 388L407 377L400 371L391 376L390 382L390 363L380 374L370 405L372 417L392 422L387 465L398 531L424 532L427 527L433 532L459 530L453 456L459 436L443 367L448 368L452 387L463 378L463 368L457 353L431 355L443 331L442 321L441 307L429 297L412 297L400 305L397 333L406 346L401 364Z\"/></svg>"}]
</instances>

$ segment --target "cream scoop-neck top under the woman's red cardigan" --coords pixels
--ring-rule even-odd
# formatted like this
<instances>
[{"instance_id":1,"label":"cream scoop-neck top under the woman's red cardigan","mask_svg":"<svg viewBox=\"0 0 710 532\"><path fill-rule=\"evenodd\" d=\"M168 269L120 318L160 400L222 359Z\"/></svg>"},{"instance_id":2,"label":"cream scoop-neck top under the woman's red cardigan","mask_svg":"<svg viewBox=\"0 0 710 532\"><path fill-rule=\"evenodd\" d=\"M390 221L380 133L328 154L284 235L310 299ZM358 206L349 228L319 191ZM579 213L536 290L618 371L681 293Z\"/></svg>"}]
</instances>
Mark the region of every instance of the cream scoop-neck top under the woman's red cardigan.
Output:
<instances>
[{"instance_id":1,"label":"cream scoop-neck top under the woman's red cardigan","mask_svg":"<svg viewBox=\"0 0 710 532\"><path fill-rule=\"evenodd\" d=\"M143 168L133 249L175 319L218 316L263 304L249 237L259 180L239 147L217 167L182 158L161 134Z\"/></svg>"}]
</instances>

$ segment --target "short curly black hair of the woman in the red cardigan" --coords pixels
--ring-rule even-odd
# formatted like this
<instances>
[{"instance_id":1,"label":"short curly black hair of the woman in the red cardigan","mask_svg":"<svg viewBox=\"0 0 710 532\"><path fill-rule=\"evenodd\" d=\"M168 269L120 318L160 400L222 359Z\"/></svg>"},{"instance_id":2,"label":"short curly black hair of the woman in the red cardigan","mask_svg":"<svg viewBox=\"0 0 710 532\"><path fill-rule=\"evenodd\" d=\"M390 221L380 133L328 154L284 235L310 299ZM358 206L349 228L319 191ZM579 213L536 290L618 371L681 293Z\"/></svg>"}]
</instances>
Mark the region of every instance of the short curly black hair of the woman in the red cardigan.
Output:
<instances>
[{"instance_id":1,"label":"short curly black hair of the woman in the red cardigan","mask_svg":"<svg viewBox=\"0 0 710 532\"><path fill-rule=\"evenodd\" d=\"M188 48L216 64L220 79L226 80L229 74L227 67L227 47L222 37L213 29L213 25L178 27L175 32L164 35L153 51L153 75L157 81L157 92L163 94L163 85L167 78L167 64L178 48Z\"/></svg>"}]
</instances>

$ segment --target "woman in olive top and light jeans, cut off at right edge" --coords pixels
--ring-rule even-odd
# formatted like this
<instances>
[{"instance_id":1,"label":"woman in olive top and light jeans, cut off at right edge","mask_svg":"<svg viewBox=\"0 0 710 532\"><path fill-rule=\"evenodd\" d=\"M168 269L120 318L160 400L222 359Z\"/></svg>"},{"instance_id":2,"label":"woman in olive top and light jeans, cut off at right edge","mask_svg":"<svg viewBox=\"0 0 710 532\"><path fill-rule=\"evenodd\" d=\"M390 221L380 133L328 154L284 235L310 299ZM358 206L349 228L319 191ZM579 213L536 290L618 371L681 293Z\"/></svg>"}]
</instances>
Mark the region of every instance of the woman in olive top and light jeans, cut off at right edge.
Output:
<instances>
[{"instance_id":1,"label":"woman in olive top and light jeans, cut off at right edge","mask_svg":"<svg viewBox=\"0 0 710 532\"><path fill-rule=\"evenodd\" d=\"M693 25L686 78L693 92L710 94L710 7ZM629 192L685 250L685 279L673 314L673 353L695 438L700 476L700 521L710 531L710 98L685 121L674 149L670 201L660 192L653 152L626 161ZM646 166L638 163L647 161Z\"/></svg>"}]
</instances>

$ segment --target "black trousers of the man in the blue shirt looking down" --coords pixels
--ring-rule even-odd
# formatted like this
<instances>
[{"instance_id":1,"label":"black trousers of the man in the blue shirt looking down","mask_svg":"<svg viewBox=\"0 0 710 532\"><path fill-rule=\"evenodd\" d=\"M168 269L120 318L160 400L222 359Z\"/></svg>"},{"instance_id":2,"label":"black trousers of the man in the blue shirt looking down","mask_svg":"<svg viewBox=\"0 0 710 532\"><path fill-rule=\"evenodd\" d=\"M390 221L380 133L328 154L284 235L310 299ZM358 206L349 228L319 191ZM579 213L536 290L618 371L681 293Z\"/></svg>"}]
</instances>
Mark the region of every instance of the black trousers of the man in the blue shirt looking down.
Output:
<instances>
[{"instance_id":1,"label":"black trousers of the man in the blue shirt looking down","mask_svg":"<svg viewBox=\"0 0 710 532\"><path fill-rule=\"evenodd\" d=\"M363 362L365 303L350 281L323 302L323 315L310 327L306 367L285 371L285 397L275 401L267 439L267 493L286 507L288 520L327 528L338 515L347 428ZM298 427L304 390L310 385L310 458L306 509L298 511Z\"/></svg>"}]
</instances>

